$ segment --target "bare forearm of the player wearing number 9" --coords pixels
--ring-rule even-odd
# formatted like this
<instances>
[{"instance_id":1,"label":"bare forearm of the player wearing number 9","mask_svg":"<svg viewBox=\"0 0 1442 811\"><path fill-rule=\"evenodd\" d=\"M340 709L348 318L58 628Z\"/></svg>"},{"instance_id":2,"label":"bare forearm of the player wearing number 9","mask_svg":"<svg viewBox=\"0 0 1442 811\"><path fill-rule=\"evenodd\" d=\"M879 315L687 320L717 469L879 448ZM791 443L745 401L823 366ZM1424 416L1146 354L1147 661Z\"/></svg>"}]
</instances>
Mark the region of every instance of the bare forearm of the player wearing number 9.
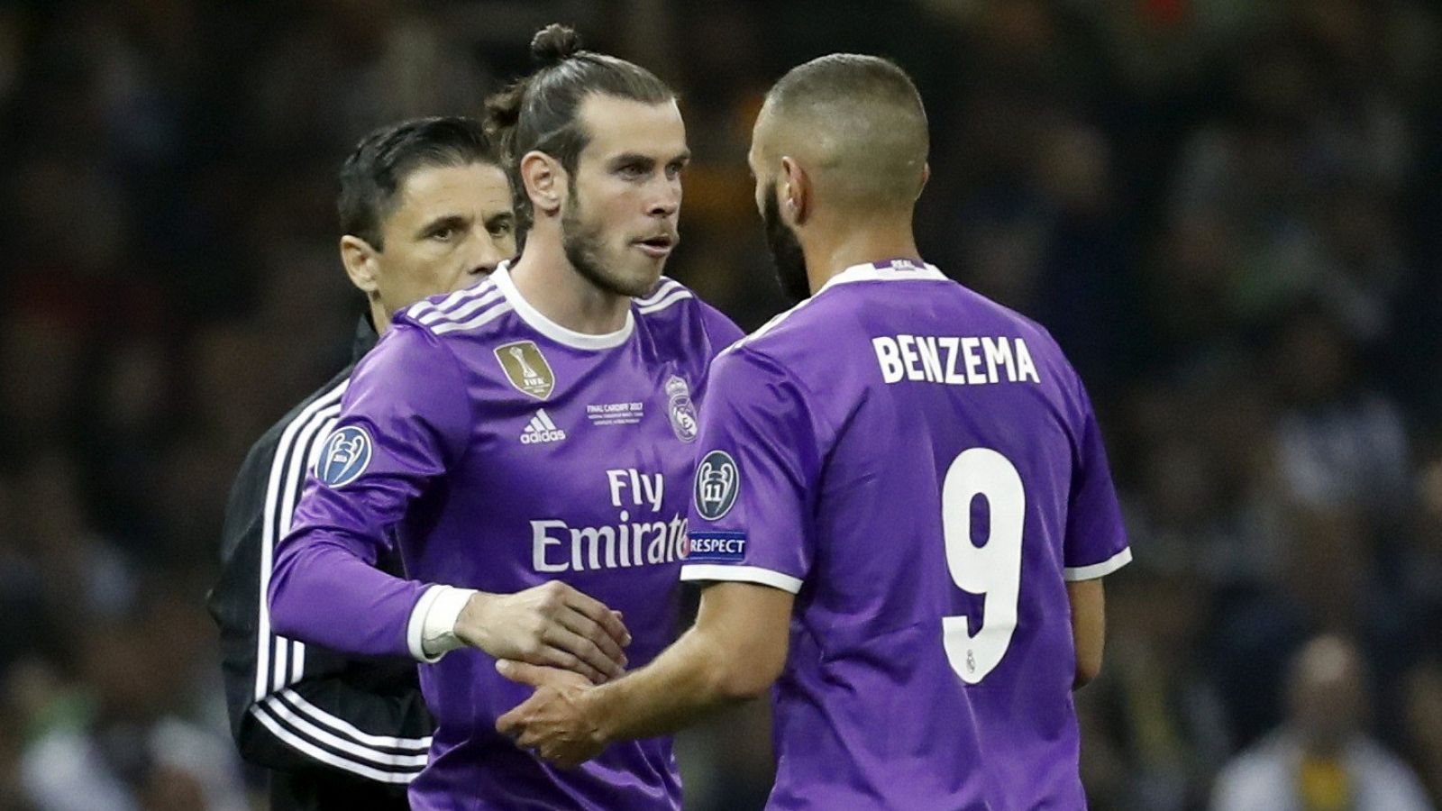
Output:
<instances>
[{"instance_id":1,"label":"bare forearm of the player wearing number 9","mask_svg":"<svg viewBox=\"0 0 1442 811\"><path fill-rule=\"evenodd\" d=\"M672 735L748 698L750 690L728 678L728 659L725 648L692 628L649 665L587 693L598 736L610 743Z\"/></svg>"}]
</instances>

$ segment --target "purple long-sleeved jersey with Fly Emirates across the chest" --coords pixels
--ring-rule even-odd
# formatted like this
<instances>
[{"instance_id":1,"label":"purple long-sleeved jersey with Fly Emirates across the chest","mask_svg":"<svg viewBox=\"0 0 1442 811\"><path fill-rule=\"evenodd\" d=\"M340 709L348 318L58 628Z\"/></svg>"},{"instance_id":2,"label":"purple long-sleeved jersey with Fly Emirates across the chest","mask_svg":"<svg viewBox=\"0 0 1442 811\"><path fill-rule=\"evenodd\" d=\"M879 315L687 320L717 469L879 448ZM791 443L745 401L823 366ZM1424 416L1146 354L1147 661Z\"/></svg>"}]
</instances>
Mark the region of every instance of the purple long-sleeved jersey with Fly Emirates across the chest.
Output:
<instances>
[{"instance_id":1,"label":"purple long-sleeved jersey with Fly Emirates across the chest","mask_svg":"<svg viewBox=\"0 0 1442 811\"><path fill-rule=\"evenodd\" d=\"M350 378L277 553L286 636L412 655L418 603L444 583L510 593L564 580L626 615L640 667L675 636L696 404L740 330L662 280L626 326L581 335L542 316L505 267L398 315ZM407 579L369 564L397 548ZM619 743L565 771L496 717L531 688L461 648L421 665L437 719L417 810L673 810L669 739ZM320 730L323 735L323 730Z\"/></svg>"}]
</instances>

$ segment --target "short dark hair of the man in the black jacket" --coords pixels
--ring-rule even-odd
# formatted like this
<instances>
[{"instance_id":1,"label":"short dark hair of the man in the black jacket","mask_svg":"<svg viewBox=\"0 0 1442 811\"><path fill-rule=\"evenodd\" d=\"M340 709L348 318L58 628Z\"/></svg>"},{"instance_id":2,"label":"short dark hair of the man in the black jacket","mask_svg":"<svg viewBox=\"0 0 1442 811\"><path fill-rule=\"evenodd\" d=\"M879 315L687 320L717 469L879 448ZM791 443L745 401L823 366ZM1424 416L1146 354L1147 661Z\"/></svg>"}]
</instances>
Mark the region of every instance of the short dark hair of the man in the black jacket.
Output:
<instances>
[{"instance_id":1,"label":"short dark hair of the man in the black jacket","mask_svg":"<svg viewBox=\"0 0 1442 811\"><path fill-rule=\"evenodd\" d=\"M373 130L340 167L336 202L340 232L384 250L381 224L391 215L395 193L411 172L469 163L505 167L499 150L473 118L411 118Z\"/></svg>"}]
</instances>

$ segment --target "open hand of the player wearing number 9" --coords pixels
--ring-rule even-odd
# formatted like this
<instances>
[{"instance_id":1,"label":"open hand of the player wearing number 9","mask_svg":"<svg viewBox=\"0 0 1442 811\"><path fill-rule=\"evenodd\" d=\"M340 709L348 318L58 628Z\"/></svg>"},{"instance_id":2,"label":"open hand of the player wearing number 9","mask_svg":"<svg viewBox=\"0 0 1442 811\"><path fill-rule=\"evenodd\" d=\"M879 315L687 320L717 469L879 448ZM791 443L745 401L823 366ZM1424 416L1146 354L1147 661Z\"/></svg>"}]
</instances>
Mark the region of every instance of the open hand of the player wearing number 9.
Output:
<instances>
[{"instance_id":1,"label":"open hand of the player wearing number 9","mask_svg":"<svg viewBox=\"0 0 1442 811\"><path fill-rule=\"evenodd\" d=\"M606 748L597 724L587 714L585 696L593 687L574 672L499 661L500 675L536 688L521 706L496 719L496 732L509 736L552 763L571 769Z\"/></svg>"}]
</instances>

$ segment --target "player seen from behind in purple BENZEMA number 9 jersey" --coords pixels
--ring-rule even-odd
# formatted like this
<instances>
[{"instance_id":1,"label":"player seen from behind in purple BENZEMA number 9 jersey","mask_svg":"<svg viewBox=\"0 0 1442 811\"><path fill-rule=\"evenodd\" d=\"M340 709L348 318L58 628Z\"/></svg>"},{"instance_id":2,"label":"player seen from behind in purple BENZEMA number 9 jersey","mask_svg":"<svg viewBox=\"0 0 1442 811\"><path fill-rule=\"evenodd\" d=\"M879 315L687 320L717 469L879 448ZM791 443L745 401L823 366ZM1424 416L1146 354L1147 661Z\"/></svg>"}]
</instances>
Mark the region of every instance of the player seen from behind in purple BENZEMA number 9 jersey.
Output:
<instances>
[{"instance_id":1,"label":"player seen from behind in purple BENZEMA number 9 jersey","mask_svg":"<svg viewBox=\"0 0 1442 811\"><path fill-rule=\"evenodd\" d=\"M783 286L701 410L671 649L541 685L499 727L561 763L776 691L773 808L1083 808L1071 690L1131 553L1100 431L1044 329L919 258L927 123L874 56L789 72L748 162Z\"/></svg>"}]
</instances>

